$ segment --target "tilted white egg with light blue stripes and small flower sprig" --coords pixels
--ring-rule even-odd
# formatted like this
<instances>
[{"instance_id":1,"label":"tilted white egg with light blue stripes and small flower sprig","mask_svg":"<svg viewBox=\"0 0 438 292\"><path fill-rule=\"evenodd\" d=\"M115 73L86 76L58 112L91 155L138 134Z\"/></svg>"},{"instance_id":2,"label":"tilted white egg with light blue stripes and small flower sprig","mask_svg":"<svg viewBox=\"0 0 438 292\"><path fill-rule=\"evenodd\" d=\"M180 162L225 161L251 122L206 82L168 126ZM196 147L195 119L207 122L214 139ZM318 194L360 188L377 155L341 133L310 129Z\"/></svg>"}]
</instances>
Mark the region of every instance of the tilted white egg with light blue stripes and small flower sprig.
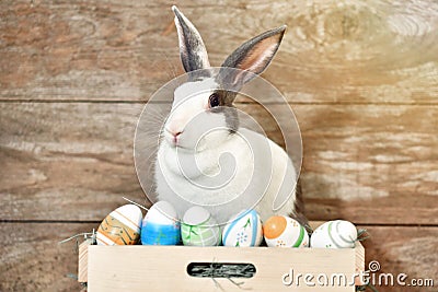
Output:
<instances>
[{"instance_id":1,"label":"tilted white egg with light blue stripes and small flower sprig","mask_svg":"<svg viewBox=\"0 0 438 292\"><path fill-rule=\"evenodd\" d=\"M262 221L255 210L241 211L223 227L224 246L258 246L262 240Z\"/></svg>"}]
</instances>

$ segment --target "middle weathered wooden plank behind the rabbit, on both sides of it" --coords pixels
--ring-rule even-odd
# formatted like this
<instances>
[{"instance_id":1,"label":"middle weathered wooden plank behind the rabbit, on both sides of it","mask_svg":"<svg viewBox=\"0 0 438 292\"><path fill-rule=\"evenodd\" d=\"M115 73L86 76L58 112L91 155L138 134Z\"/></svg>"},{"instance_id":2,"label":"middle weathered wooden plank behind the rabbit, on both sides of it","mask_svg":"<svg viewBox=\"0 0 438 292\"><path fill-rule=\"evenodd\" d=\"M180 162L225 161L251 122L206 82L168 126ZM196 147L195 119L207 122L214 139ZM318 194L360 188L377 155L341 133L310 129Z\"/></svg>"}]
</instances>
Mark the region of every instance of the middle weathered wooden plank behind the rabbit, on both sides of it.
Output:
<instances>
[{"instance_id":1,"label":"middle weathered wooden plank behind the rabbit, on both sides of it","mask_svg":"<svg viewBox=\"0 0 438 292\"><path fill-rule=\"evenodd\" d=\"M239 107L281 142L258 106ZM310 219L438 223L438 107L292 107L303 137ZM132 159L141 109L141 104L0 103L0 218L101 220L124 202L122 196L141 202Z\"/></svg>"}]
</instances>

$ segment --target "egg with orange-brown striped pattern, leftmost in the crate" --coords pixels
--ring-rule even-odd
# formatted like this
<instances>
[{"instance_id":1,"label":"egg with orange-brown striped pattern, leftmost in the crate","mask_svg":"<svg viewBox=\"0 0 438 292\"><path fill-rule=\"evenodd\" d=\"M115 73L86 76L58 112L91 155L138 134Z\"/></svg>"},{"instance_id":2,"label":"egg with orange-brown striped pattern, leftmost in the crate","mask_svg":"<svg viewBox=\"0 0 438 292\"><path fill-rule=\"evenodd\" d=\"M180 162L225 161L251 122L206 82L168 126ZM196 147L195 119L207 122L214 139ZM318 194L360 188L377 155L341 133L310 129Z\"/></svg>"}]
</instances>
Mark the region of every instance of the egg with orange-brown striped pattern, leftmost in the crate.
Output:
<instances>
[{"instance_id":1,"label":"egg with orange-brown striped pattern, leftmost in the crate","mask_svg":"<svg viewBox=\"0 0 438 292\"><path fill-rule=\"evenodd\" d=\"M97 245L132 245L140 238L142 213L135 205L125 205L111 212L97 229Z\"/></svg>"}]
</instances>

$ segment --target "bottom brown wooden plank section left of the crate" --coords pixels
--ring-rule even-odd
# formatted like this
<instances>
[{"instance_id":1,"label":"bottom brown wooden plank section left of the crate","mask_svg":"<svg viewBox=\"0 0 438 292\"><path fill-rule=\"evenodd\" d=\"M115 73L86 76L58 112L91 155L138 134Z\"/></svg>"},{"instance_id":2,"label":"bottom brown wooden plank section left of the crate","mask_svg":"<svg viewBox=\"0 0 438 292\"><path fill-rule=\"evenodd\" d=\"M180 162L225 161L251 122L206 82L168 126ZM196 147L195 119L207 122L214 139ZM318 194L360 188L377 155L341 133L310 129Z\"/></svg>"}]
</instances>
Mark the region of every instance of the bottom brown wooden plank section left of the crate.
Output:
<instances>
[{"instance_id":1,"label":"bottom brown wooden plank section left of the crate","mask_svg":"<svg viewBox=\"0 0 438 292\"><path fill-rule=\"evenodd\" d=\"M99 225L99 224L97 224ZM76 242L58 242L96 224L0 223L1 291L81 291Z\"/></svg>"}]
</instances>

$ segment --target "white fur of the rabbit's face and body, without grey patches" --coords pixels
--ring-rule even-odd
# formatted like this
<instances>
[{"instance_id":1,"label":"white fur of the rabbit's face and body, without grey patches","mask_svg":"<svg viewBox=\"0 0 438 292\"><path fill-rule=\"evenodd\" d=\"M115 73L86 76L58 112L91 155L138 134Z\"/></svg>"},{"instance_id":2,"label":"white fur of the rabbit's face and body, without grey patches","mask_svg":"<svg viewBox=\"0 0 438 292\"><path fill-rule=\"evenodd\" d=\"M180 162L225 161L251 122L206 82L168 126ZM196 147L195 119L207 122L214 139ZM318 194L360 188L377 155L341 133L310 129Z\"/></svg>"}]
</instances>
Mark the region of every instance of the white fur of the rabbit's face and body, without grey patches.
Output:
<instances>
[{"instance_id":1,"label":"white fur of the rabbit's face and body, without grey patches","mask_svg":"<svg viewBox=\"0 0 438 292\"><path fill-rule=\"evenodd\" d=\"M249 129L230 135L224 115L208 109L216 86L207 79L175 91L164 129L178 128L182 133L175 145L169 131L163 132L155 165L158 199L171 202L180 217L193 203L201 205L220 223L252 207L263 220L292 212L297 174L289 156Z\"/></svg>"}]
</instances>

